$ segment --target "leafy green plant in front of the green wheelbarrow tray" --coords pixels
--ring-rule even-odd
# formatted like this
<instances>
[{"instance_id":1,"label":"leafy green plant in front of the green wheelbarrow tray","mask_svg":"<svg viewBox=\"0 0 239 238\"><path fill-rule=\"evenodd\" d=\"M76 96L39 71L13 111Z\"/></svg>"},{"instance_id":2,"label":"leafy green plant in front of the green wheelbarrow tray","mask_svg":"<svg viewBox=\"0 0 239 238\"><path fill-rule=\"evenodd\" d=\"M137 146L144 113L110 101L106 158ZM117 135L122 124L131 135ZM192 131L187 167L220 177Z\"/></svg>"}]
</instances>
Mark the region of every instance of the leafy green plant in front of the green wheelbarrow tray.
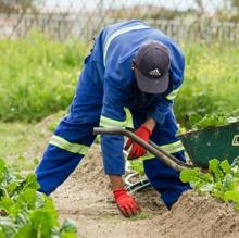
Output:
<instances>
[{"instance_id":1,"label":"leafy green plant in front of the green wheelbarrow tray","mask_svg":"<svg viewBox=\"0 0 239 238\"><path fill-rule=\"evenodd\" d=\"M227 160L210 160L209 173L202 173L200 168L185 170L180 172L180 179L203 195L234 202L239 210L239 158L231 165Z\"/></svg>"}]
</instances>

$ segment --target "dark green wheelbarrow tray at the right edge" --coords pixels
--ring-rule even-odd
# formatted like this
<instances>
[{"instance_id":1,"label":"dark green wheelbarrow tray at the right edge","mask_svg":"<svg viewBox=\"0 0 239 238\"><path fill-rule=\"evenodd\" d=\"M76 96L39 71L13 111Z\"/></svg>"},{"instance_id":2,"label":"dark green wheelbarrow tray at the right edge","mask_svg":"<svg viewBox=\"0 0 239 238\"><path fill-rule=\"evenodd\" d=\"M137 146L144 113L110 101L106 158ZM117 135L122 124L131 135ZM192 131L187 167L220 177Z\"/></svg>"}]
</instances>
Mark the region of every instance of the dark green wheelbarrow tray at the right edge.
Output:
<instances>
[{"instance_id":1,"label":"dark green wheelbarrow tray at the right edge","mask_svg":"<svg viewBox=\"0 0 239 238\"><path fill-rule=\"evenodd\" d=\"M209 160L228 160L239 156L239 122L225 126L189 131L178 136L193 165L207 168Z\"/></svg>"}]
</instances>

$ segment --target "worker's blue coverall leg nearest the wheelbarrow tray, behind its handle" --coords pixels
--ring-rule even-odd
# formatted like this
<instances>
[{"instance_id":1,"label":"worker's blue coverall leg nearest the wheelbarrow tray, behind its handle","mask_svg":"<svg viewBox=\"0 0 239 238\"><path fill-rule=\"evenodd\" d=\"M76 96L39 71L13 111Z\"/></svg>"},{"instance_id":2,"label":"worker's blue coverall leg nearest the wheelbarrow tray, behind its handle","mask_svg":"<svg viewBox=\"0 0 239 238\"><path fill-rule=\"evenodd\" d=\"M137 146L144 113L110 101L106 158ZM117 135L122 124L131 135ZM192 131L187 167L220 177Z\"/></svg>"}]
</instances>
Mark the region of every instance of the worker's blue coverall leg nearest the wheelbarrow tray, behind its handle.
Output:
<instances>
[{"instance_id":1,"label":"worker's blue coverall leg nearest the wheelbarrow tray, behind its handle","mask_svg":"<svg viewBox=\"0 0 239 238\"><path fill-rule=\"evenodd\" d=\"M135 128L138 128L147 120L146 113L131 111L131 114ZM171 112L166 115L163 125L156 124L150 139L178 160L185 161L184 147L176 136L177 129L174 113ZM180 181L178 172L153 155L143 160L143 167L150 184L160 192L168 209L185 190L190 189L188 184Z\"/></svg>"}]
</instances>

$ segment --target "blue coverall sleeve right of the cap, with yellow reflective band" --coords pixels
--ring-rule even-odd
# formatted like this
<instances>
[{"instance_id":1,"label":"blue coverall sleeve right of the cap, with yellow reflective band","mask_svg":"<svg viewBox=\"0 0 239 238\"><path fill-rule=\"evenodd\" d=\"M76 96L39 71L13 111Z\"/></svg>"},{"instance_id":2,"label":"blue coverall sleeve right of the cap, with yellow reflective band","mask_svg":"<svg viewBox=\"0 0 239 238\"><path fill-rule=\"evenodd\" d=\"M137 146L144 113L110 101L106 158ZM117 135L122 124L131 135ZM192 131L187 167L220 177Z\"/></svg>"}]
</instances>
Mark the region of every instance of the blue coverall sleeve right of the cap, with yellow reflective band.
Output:
<instances>
[{"instance_id":1,"label":"blue coverall sleeve right of the cap, with yellow reflective band","mask_svg":"<svg viewBox=\"0 0 239 238\"><path fill-rule=\"evenodd\" d=\"M173 110L174 99L184 80L185 57L175 49L172 49L171 52L173 55L169 68L169 88L165 95L159 97L155 105L148 112L148 116L154 118L160 125L164 123L167 113Z\"/></svg>"}]
</instances>

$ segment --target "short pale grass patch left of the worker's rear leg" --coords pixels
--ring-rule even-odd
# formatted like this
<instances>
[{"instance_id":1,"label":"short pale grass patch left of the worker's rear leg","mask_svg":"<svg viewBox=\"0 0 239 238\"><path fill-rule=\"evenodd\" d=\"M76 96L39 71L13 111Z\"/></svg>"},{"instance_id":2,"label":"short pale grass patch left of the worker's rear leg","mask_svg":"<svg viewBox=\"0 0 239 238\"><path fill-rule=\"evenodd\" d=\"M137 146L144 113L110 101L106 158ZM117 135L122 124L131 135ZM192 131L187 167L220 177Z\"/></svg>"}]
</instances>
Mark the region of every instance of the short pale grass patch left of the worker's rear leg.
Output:
<instances>
[{"instance_id":1,"label":"short pale grass patch left of the worker's rear leg","mask_svg":"<svg viewBox=\"0 0 239 238\"><path fill-rule=\"evenodd\" d=\"M55 113L39 124L0 122L0 158L17 170L33 171L63 114Z\"/></svg>"}]
</instances>

